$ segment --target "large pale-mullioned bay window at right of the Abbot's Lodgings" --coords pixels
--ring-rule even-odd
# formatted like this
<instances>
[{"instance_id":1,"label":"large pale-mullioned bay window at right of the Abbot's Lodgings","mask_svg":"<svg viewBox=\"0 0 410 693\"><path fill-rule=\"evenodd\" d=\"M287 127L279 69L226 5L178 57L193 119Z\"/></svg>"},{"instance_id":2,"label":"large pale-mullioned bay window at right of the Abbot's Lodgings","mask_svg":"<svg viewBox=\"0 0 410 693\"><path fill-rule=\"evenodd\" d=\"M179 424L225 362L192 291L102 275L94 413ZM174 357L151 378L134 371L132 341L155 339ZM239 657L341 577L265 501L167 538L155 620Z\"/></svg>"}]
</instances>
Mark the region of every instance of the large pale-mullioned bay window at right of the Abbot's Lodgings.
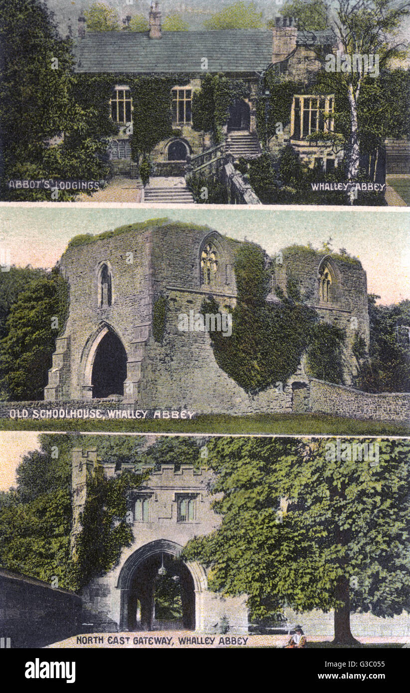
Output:
<instances>
[{"instance_id":1,"label":"large pale-mullioned bay window at right of the Abbot's Lodgings","mask_svg":"<svg viewBox=\"0 0 410 693\"><path fill-rule=\"evenodd\" d=\"M330 96L293 96L291 137L303 139L314 132L333 132L334 94Z\"/></svg>"}]
</instances>

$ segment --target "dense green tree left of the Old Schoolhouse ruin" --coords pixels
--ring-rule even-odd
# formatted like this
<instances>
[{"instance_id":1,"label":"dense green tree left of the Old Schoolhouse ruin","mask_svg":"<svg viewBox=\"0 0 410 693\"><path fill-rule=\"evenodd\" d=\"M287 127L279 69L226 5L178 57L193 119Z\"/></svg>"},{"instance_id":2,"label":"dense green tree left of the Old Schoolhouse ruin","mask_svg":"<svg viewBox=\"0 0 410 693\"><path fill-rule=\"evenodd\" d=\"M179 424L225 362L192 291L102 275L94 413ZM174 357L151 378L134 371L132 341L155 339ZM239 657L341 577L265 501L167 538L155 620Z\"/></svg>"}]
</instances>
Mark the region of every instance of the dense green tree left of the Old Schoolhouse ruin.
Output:
<instances>
[{"instance_id":1,"label":"dense green tree left of the Old Schoolhouse ruin","mask_svg":"<svg viewBox=\"0 0 410 693\"><path fill-rule=\"evenodd\" d=\"M42 399L55 337L62 333L67 315L67 283L58 270L41 274L19 294L0 342L0 388L7 399Z\"/></svg>"}]
</instances>

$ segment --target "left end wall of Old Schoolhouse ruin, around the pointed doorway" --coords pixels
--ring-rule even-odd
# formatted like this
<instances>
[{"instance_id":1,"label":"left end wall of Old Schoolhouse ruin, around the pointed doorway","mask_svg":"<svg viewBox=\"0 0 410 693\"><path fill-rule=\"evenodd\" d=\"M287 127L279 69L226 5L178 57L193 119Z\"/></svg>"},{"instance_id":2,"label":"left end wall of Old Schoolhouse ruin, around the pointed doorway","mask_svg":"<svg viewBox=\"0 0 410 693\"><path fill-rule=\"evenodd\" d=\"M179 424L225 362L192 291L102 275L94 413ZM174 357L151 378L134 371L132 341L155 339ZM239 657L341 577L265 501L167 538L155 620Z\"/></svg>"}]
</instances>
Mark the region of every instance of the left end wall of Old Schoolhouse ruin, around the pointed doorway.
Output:
<instances>
[{"instance_id":1,"label":"left end wall of Old Schoolhouse ruin, around the pointed doorway","mask_svg":"<svg viewBox=\"0 0 410 693\"><path fill-rule=\"evenodd\" d=\"M139 364L152 314L151 233L146 225L135 232L74 245L60 262L69 282L69 319L56 342L46 399L92 396L92 350L104 324L117 334L128 356L127 378L139 382ZM99 268L112 273L112 304L99 307ZM87 371L87 377L85 372Z\"/></svg>"}]
</instances>

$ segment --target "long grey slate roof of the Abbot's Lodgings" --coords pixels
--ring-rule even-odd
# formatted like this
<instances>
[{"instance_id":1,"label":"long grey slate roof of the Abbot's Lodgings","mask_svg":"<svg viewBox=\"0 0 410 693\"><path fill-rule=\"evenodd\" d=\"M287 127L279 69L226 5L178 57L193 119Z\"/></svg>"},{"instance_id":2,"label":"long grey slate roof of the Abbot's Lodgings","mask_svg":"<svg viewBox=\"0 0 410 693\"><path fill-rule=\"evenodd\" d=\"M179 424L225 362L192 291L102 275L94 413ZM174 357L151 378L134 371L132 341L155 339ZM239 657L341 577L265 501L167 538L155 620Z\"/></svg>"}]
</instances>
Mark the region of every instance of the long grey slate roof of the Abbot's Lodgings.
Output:
<instances>
[{"instance_id":1,"label":"long grey slate roof of the Abbot's Lodgings","mask_svg":"<svg viewBox=\"0 0 410 693\"><path fill-rule=\"evenodd\" d=\"M299 36L300 34L300 36ZM316 32L315 36L324 32ZM298 43L309 41L298 33ZM148 32L87 32L75 47L76 72L201 73L207 58L210 72L260 72L272 62L271 30L164 31L161 39Z\"/></svg>"}]
</instances>

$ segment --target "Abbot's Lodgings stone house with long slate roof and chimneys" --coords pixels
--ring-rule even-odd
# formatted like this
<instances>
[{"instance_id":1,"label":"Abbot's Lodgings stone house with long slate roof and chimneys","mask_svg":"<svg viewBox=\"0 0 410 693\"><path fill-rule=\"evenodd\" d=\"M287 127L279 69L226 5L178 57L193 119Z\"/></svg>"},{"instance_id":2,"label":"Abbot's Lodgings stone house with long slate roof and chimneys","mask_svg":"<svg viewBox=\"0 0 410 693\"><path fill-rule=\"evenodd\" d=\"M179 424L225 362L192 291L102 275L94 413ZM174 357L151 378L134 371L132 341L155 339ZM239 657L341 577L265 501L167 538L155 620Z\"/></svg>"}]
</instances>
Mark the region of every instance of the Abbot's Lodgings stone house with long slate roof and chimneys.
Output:
<instances>
[{"instance_id":1,"label":"Abbot's Lodgings stone house with long slate roof and chimneys","mask_svg":"<svg viewBox=\"0 0 410 693\"><path fill-rule=\"evenodd\" d=\"M157 2L152 3L147 32L92 33L86 30L85 18L79 17L76 72L112 75L112 96L107 107L120 130L112 139L109 153L117 173L130 175L133 171L130 147L133 100L130 85L116 81L116 73L130 77L187 76L183 83L176 81L170 94L172 125L177 134L158 143L151 152L157 175L182 175L187 161L211 146L209 133L192 128L192 95L200 89L206 73L222 73L246 85L247 95L230 107L224 134L235 158L257 156L264 133L257 132L256 107L258 99L265 98L262 92L266 71L274 67L280 75L307 85L320 67L315 47L330 52L333 43L329 31L299 31L291 17L276 17L275 27L266 30L162 32L161 22ZM334 94L295 94L290 123L280 135L271 138L269 148L279 152L290 142L309 166L314 166L316 159L323 170L331 170L341 161L343 152L335 155L331 146L311 143L307 138L315 130L333 130L332 112Z\"/></svg>"}]
</instances>

